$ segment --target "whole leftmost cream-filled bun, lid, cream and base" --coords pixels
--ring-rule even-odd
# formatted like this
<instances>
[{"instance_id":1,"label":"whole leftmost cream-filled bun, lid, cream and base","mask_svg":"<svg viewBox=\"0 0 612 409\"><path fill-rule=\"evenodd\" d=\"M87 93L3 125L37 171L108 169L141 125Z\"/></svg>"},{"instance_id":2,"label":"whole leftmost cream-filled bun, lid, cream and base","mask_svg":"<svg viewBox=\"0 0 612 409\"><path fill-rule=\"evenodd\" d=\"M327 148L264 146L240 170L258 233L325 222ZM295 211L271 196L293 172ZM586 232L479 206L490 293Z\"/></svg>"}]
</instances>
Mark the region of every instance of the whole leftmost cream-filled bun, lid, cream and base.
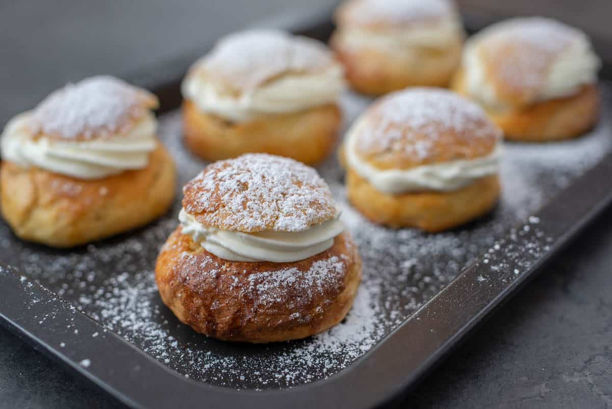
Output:
<instances>
[{"instance_id":1,"label":"whole leftmost cream-filled bun, lid, cream and base","mask_svg":"<svg viewBox=\"0 0 612 409\"><path fill-rule=\"evenodd\" d=\"M17 236L71 247L144 225L170 207L174 163L157 98L113 77L68 84L2 132L2 215Z\"/></svg>"}]
</instances>

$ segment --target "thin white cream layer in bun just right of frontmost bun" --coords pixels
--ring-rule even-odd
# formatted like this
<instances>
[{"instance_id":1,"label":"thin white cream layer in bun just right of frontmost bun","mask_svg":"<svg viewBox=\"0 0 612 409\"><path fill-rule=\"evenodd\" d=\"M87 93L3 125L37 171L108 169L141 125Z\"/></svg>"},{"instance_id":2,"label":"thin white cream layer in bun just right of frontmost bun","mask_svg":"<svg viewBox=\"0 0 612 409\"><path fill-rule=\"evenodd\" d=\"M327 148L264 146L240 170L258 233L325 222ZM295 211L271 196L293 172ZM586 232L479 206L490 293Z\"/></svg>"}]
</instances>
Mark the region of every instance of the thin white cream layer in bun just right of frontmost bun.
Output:
<instances>
[{"instance_id":1,"label":"thin white cream layer in bun just right of frontmost bun","mask_svg":"<svg viewBox=\"0 0 612 409\"><path fill-rule=\"evenodd\" d=\"M420 165L406 170L377 169L357 154L356 143L360 123L358 122L346 135L346 161L357 174L380 192L397 195L424 189L451 191L498 173L501 144L498 144L490 155L476 159Z\"/></svg>"}]
</instances>

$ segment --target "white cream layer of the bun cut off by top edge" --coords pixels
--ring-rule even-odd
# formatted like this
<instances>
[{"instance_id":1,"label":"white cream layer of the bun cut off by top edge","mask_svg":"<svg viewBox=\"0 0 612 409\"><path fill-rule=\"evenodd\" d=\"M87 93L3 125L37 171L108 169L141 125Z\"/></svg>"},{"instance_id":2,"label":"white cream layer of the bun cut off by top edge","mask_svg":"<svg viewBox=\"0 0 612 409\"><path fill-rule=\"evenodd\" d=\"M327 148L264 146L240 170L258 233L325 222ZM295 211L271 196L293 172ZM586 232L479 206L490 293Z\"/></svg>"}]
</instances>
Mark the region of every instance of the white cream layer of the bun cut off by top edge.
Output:
<instances>
[{"instance_id":1,"label":"white cream layer of the bun cut off by top edge","mask_svg":"<svg viewBox=\"0 0 612 409\"><path fill-rule=\"evenodd\" d=\"M435 23L412 24L408 27L387 29L344 28L345 45L355 50L374 49L397 53L413 47L444 49L463 38L463 28L458 18L448 16Z\"/></svg>"}]
</instances>

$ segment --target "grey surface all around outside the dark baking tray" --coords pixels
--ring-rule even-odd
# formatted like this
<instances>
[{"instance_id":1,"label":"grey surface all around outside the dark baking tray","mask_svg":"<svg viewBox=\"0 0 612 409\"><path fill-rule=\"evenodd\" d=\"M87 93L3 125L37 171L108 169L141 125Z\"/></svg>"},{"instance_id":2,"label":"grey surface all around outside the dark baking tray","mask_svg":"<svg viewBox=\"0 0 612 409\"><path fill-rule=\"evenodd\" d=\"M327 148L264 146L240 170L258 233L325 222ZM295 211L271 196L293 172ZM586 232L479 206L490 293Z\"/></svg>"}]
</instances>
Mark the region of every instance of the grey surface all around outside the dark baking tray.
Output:
<instances>
[{"instance_id":1,"label":"grey surface all around outside the dark baking tray","mask_svg":"<svg viewBox=\"0 0 612 409\"><path fill-rule=\"evenodd\" d=\"M500 11L524 14L530 7L612 39L608 0L461 2L487 16ZM204 47L255 20L311 12L332 3L4 0L0 120L30 108L67 81L96 73L133 72ZM612 408L611 254L612 211L608 210L416 391L393 406ZM122 405L0 329L0 408Z\"/></svg>"}]
</instances>

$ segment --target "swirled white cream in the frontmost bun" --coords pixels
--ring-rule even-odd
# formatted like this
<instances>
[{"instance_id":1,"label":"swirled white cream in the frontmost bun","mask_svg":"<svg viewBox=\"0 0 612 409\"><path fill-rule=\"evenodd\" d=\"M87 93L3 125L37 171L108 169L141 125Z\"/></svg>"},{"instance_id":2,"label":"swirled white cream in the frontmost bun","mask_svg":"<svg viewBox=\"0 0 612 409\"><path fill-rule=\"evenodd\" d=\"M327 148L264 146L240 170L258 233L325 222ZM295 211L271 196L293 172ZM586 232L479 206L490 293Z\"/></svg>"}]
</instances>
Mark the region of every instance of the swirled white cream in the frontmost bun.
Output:
<instances>
[{"instance_id":1,"label":"swirled white cream in the frontmost bun","mask_svg":"<svg viewBox=\"0 0 612 409\"><path fill-rule=\"evenodd\" d=\"M242 233L203 225L185 209L181 209L179 221L184 235L191 236L207 252L223 260L274 263L304 260L324 252L334 245L335 236L340 235L345 228L336 217L306 231Z\"/></svg>"}]
</instances>

